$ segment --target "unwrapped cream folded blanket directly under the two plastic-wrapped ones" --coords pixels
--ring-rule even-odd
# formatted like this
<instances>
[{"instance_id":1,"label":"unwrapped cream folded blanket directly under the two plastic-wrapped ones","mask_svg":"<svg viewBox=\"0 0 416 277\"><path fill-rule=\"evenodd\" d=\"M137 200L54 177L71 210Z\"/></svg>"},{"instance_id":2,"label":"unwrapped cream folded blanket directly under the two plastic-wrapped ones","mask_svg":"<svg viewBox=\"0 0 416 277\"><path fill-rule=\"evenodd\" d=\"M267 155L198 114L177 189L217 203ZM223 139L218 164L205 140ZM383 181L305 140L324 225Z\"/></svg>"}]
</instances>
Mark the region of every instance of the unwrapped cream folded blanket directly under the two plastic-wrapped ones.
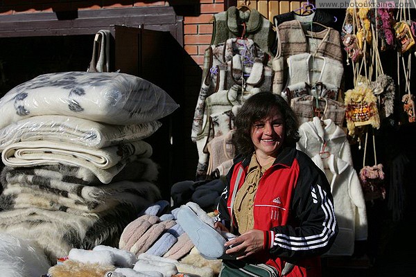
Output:
<instances>
[{"instance_id":1,"label":"unwrapped cream folded blanket directly under the two plastic-wrapped ones","mask_svg":"<svg viewBox=\"0 0 416 277\"><path fill-rule=\"evenodd\" d=\"M145 141L134 141L102 149L71 143L31 141L12 143L1 153L6 166L32 167L53 164L79 166L94 172L104 184L110 183L126 164L137 158L151 157L153 149Z\"/></svg>"}]
</instances>

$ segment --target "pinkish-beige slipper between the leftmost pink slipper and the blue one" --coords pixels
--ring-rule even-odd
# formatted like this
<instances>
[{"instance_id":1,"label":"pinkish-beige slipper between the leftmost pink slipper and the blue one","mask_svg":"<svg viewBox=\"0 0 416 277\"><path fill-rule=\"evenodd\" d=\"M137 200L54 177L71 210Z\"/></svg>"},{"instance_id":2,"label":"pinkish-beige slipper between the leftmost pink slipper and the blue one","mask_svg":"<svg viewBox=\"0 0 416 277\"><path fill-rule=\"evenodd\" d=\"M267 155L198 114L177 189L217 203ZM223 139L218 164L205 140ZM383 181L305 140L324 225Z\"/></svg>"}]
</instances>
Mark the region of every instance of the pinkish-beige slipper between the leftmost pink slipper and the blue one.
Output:
<instances>
[{"instance_id":1,"label":"pinkish-beige slipper between the leftmost pink slipper and the blue one","mask_svg":"<svg viewBox=\"0 0 416 277\"><path fill-rule=\"evenodd\" d=\"M150 228L143 234L141 237L132 245L130 252L134 253L136 256L139 253L144 253L149 247L159 238L159 235L164 233L167 229L175 225L174 220L162 221L157 224L153 224Z\"/></svg>"}]
</instances>

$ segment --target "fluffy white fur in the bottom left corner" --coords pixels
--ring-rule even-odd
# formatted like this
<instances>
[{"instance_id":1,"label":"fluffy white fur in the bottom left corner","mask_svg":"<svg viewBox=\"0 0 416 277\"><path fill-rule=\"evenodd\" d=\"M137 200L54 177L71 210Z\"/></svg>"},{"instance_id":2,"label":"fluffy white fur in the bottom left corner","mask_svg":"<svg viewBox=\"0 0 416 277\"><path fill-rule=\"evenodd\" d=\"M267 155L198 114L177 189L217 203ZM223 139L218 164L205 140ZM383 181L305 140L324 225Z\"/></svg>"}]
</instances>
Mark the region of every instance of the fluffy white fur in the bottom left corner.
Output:
<instances>
[{"instance_id":1,"label":"fluffy white fur in the bottom left corner","mask_svg":"<svg viewBox=\"0 0 416 277\"><path fill-rule=\"evenodd\" d=\"M0 269L3 277L27 277L46 274L49 261L33 240L0 233Z\"/></svg>"}]
</instances>

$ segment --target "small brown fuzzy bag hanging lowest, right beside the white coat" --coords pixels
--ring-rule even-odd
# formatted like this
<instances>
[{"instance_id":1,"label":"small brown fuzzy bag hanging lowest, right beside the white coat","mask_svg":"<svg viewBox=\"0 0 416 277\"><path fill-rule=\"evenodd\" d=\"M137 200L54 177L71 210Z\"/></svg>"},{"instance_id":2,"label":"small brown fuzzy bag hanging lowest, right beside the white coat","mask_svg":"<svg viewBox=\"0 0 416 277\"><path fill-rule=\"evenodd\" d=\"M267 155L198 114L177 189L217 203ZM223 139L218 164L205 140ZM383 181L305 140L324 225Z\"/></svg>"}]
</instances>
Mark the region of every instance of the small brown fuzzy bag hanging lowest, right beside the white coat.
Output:
<instances>
[{"instance_id":1,"label":"small brown fuzzy bag hanging lowest, right beside the white coat","mask_svg":"<svg viewBox=\"0 0 416 277\"><path fill-rule=\"evenodd\" d=\"M365 146L363 157L363 168L360 170L361 187L365 201L374 201L375 199L385 199L385 184L383 165L377 164L376 141L373 133L374 148L374 166L365 166L365 154L367 153L368 131L365 133Z\"/></svg>"}]
</instances>

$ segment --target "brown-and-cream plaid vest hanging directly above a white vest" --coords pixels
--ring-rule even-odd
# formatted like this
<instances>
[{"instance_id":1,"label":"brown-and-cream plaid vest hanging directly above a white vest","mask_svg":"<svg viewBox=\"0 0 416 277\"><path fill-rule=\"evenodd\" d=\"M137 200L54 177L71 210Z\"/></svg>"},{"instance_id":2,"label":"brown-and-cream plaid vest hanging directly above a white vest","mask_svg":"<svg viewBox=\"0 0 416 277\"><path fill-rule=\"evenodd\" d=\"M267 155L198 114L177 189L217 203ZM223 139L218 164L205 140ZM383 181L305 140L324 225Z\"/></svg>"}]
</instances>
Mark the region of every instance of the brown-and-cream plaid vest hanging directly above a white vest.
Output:
<instances>
[{"instance_id":1,"label":"brown-and-cream plaid vest hanging directly above a white vest","mask_svg":"<svg viewBox=\"0 0 416 277\"><path fill-rule=\"evenodd\" d=\"M342 62L343 52L340 44L340 33L328 27L321 32L306 33L317 39L318 46L309 50L309 38L306 38L302 25L298 20L285 21L277 26L277 54L272 60L272 69L275 72L273 78L272 92L281 94L284 83L287 80L287 58L291 55L311 53L315 56L330 57Z\"/></svg>"}]
</instances>

